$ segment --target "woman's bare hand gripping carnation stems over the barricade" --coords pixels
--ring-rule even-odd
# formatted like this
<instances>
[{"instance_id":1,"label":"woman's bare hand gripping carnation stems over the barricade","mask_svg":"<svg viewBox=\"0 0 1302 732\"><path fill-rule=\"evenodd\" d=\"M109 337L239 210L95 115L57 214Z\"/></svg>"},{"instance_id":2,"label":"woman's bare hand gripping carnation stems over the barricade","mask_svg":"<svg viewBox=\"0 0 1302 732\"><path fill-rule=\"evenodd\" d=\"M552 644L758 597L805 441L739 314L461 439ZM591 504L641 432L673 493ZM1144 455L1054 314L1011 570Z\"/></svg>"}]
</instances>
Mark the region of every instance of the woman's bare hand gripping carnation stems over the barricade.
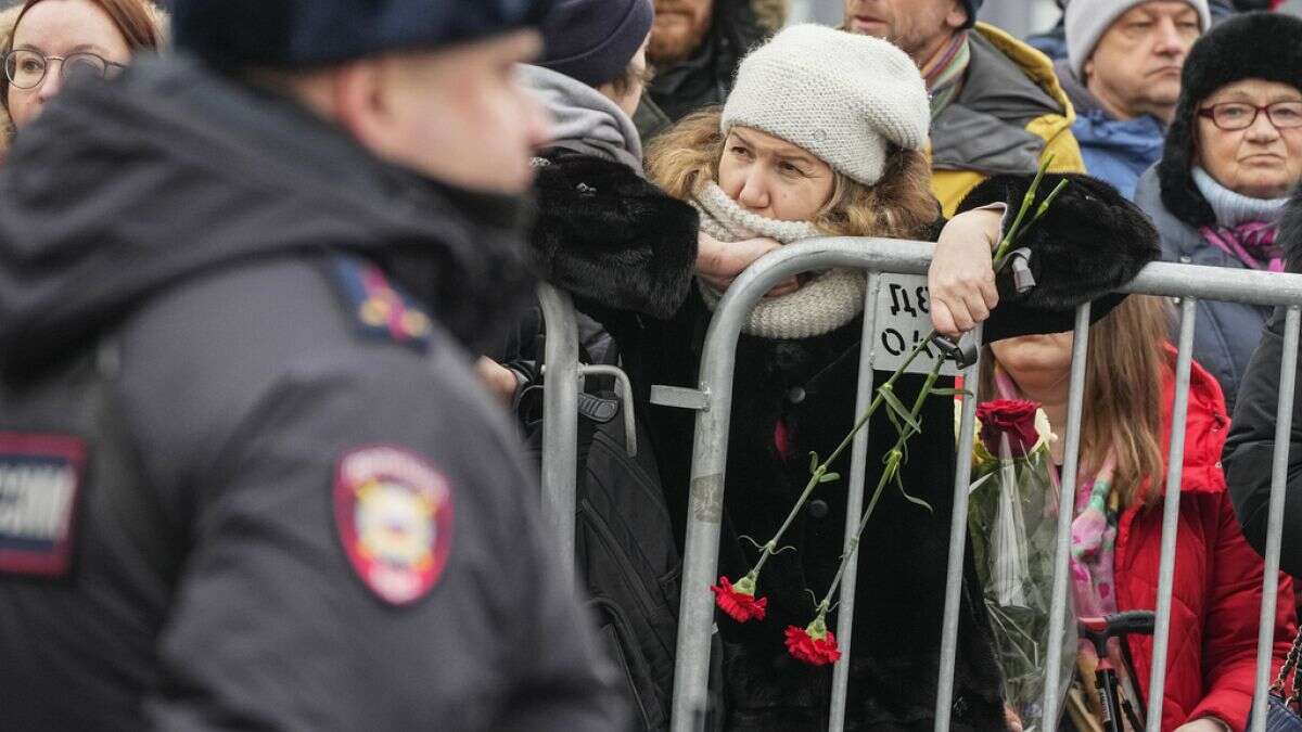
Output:
<instances>
[{"instance_id":1,"label":"woman's bare hand gripping carnation stems over the barricade","mask_svg":"<svg viewBox=\"0 0 1302 732\"><path fill-rule=\"evenodd\" d=\"M999 305L991 255L1003 220L999 208L976 208L954 216L940 232L927 287L931 323L943 335L957 336L975 328Z\"/></svg>"}]
</instances>

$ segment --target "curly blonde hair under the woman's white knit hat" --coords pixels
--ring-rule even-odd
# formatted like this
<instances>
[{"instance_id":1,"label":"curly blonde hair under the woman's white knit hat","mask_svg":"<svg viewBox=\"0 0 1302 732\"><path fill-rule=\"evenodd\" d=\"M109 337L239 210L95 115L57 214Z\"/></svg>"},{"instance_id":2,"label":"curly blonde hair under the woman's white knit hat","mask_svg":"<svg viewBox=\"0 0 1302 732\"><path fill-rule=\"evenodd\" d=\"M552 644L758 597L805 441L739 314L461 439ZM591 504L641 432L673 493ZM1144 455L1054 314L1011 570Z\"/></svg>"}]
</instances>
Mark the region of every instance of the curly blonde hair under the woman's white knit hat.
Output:
<instances>
[{"instance_id":1,"label":"curly blonde hair under the woman's white knit hat","mask_svg":"<svg viewBox=\"0 0 1302 732\"><path fill-rule=\"evenodd\" d=\"M712 107L684 117L647 148L647 175L665 193L689 201L719 180L725 141L721 116L723 109ZM828 236L922 238L939 218L926 155L896 148L875 186L833 171L832 198L812 224Z\"/></svg>"}]
</instances>

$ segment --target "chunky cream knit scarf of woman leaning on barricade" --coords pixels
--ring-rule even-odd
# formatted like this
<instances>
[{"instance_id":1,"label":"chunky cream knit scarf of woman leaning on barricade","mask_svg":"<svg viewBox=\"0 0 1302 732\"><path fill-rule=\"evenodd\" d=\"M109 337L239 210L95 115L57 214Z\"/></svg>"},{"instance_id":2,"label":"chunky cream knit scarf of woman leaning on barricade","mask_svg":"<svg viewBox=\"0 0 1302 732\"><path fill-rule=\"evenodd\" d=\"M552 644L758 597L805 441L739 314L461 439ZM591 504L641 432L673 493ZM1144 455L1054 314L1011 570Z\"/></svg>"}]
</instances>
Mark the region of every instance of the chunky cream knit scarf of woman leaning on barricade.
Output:
<instances>
[{"instance_id":1,"label":"chunky cream knit scarf of woman leaning on barricade","mask_svg":"<svg viewBox=\"0 0 1302 732\"><path fill-rule=\"evenodd\" d=\"M691 202L700 212L700 231L719 241L768 237L780 244L823 236L809 221L779 221L746 211L717 184L710 182ZM723 293L698 280L706 306L713 310ZM801 289L764 298L751 311L742 332L769 340L799 340L829 333L863 311L867 281L857 270L819 272Z\"/></svg>"}]
</instances>

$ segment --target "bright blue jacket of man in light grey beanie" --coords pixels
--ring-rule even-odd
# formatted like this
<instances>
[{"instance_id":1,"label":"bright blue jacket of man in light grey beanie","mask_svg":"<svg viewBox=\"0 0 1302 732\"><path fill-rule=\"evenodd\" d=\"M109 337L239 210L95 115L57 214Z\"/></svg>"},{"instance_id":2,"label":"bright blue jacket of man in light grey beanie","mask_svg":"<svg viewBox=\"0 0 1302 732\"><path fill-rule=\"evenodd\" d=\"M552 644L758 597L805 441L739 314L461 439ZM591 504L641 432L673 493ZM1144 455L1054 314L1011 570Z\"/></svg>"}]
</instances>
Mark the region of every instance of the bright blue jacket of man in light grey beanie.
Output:
<instances>
[{"instance_id":1,"label":"bright blue jacket of man in light grey beanie","mask_svg":"<svg viewBox=\"0 0 1302 732\"><path fill-rule=\"evenodd\" d=\"M1075 107L1072 134L1081 143L1085 169L1134 199L1139 176L1161 159L1165 126L1151 116L1113 120L1072 73L1065 61L1055 64L1062 90Z\"/></svg>"}]
</instances>

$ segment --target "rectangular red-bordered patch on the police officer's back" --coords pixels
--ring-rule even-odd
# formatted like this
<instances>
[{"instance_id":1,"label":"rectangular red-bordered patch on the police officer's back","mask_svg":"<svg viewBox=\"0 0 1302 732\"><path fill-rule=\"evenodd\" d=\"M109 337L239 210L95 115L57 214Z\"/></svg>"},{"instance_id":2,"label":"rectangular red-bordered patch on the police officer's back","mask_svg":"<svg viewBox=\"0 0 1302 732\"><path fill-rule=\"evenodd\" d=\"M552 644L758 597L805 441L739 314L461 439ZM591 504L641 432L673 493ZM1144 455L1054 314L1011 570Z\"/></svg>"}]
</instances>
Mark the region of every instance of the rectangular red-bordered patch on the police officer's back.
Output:
<instances>
[{"instance_id":1,"label":"rectangular red-bordered patch on the police officer's back","mask_svg":"<svg viewBox=\"0 0 1302 732\"><path fill-rule=\"evenodd\" d=\"M0 432L0 573L68 573L85 469L79 438Z\"/></svg>"}]
</instances>

